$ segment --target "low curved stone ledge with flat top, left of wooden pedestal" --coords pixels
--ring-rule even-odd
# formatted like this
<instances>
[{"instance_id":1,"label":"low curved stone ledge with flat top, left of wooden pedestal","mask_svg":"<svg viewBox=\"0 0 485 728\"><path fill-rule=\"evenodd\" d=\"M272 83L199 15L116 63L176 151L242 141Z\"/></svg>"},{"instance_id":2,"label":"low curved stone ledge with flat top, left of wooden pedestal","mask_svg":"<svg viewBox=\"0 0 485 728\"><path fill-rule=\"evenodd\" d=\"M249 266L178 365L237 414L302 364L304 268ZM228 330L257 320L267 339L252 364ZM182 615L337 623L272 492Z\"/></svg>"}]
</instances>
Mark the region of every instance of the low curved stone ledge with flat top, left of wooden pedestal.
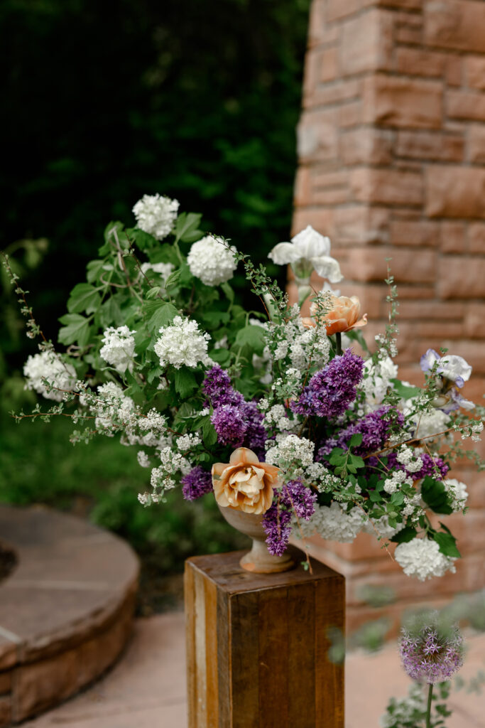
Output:
<instances>
[{"instance_id":1,"label":"low curved stone ledge with flat top, left of wooden pedestal","mask_svg":"<svg viewBox=\"0 0 485 728\"><path fill-rule=\"evenodd\" d=\"M57 705L119 657L138 561L113 534L45 507L0 506L15 571L0 584L0 728Z\"/></svg>"}]
</instances>

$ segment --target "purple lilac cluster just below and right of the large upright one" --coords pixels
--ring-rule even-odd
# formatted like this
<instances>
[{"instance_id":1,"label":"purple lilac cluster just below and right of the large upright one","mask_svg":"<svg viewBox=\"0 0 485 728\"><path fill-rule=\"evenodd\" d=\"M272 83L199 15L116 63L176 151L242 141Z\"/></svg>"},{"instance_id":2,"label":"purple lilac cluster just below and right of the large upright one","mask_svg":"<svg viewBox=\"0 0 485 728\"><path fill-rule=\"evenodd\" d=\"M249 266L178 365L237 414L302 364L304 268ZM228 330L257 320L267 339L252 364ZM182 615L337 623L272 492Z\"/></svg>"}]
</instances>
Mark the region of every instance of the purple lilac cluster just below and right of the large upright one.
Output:
<instances>
[{"instance_id":1,"label":"purple lilac cluster just below and right of the large upright one","mask_svg":"<svg viewBox=\"0 0 485 728\"><path fill-rule=\"evenodd\" d=\"M340 432L338 438L326 440L318 450L318 459L321 460L324 455L329 455L333 448L347 449L350 438L356 434L362 435L361 444L353 448L356 455L368 455L381 450L390 435L393 424L398 427L402 427L404 424L404 415L395 407L385 405L373 412L369 412L369 414L345 427L345 430Z\"/></svg>"}]
</instances>

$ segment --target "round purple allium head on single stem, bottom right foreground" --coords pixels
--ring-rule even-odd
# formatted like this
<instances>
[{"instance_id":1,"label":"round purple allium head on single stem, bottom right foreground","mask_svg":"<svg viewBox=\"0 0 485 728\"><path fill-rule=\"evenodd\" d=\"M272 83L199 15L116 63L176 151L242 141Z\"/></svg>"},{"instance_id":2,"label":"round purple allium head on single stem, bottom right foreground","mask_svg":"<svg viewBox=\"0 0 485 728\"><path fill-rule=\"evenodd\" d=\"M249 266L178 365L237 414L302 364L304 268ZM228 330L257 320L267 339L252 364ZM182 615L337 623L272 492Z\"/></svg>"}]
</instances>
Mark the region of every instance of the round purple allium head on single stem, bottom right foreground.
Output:
<instances>
[{"instance_id":1,"label":"round purple allium head on single stem, bottom right foreground","mask_svg":"<svg viewBox=\"0 0 485 728\"><path fill-rule=\"evenodd\" d=\"M412 680L435 684L449 680L463 664L463 638L456 625L441 625L438 612L403 628L401 661Z\"/></svg>"}]
</instances>

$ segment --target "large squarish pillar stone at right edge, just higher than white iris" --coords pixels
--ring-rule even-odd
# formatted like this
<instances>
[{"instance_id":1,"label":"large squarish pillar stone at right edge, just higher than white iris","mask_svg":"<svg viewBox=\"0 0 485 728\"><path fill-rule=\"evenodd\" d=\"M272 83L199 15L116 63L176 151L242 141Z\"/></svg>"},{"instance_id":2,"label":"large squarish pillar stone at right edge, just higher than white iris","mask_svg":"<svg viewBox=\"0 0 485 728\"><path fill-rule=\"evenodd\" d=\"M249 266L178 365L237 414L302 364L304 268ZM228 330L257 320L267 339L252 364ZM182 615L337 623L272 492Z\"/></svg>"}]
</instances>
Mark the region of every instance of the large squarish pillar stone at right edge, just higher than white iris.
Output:
<instances>
[{"instance_id":1,"label":"large squarish pillar stone at right edge, just higher than white iris","mask_svg":"<svg viewBox=\"0 0 485 728\"><path fill-rule=\"evenodd\" d=\"M473 167L428 167L426 214L431 218L485 218L485 170Z\"/></svg>"}]
</instances>

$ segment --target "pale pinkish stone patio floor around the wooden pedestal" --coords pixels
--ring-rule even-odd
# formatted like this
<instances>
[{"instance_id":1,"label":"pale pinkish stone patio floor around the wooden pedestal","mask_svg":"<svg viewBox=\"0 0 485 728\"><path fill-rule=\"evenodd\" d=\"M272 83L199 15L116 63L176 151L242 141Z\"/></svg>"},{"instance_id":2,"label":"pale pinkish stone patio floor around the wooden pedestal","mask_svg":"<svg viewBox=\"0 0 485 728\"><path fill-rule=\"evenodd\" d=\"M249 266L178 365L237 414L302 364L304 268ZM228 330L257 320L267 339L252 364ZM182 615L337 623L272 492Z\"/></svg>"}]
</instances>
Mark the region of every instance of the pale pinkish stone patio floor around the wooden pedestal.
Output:
<instances>
[{"instance_id":1,"label":"pale pinkish stone patio floor around the wooden pedestal","mask_svg":"<svg viewBox=\"0 0 485 728\"><path fill-rule=\"evenodd\" d=\"M485 670L485 635L469 636L463 678ZM406 694L409 679L395 644L377 654L347 660L346 728L377 728L391 695ZM485 728L485 694L453 692L447 728ZM185 629L180 612L135 622L135 633L118 664L81 695L25 728L186 728ZM295 726L294 728L297 728Z\"/></svg>"}]
</instances>

